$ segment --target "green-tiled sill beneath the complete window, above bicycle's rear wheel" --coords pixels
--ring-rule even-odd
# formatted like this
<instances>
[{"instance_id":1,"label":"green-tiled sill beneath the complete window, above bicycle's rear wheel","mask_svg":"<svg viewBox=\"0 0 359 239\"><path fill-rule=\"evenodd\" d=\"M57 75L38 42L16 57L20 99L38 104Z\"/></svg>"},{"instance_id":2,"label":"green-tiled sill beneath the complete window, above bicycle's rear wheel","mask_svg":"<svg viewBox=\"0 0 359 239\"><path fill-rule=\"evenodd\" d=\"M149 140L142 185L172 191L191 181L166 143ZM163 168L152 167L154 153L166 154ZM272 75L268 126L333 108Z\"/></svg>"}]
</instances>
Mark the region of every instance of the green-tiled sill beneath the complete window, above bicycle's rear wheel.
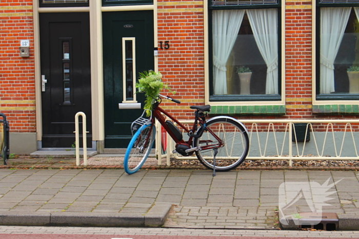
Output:
<instances>
[{"instance_id":1,"label":"green-tiled sill beneath the complete window, above bicycle's rear wheel","mask_svg":"<svg viewBox=\"0 0 359 239\"><path fill-rule=\"evenodd\" d=\"M211 115L285 115L285 105L211 105Z\"/></svg>"}]
</instances>

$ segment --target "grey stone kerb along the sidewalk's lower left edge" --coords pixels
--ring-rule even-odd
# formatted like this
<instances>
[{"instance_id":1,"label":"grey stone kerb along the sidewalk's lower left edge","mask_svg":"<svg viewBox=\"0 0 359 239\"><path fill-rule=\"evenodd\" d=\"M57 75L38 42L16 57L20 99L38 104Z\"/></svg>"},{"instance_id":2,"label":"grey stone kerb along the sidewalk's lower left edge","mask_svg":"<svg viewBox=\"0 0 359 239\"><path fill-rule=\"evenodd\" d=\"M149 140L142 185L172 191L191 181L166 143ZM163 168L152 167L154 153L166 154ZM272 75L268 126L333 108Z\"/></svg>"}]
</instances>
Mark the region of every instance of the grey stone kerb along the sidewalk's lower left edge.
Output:
<instances>
[{"instance_id":1,"label":"grey stone kerb along the sidewalk's lower left edge","mask_svg":"<svg viewBox=\"0 0 359 239\"><path fill-rule=\"evenodd\" d=\"M0 225L78 227L161 227L170 204L153 205L145 214L98 212L0 212Z\"/></svg>"}]
</instances>

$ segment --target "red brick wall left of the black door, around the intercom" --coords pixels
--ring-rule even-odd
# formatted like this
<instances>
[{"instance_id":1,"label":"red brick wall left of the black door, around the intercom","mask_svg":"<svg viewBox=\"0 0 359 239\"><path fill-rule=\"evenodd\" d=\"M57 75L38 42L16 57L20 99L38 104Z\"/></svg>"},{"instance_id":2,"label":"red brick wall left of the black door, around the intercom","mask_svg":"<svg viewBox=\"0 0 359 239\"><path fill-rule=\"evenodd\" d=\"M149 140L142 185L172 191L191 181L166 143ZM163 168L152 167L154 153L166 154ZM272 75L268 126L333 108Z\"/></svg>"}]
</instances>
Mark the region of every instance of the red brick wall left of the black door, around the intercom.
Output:
<instances>
[{"instance_id":1,"label":"red brick wall left of the black door, around the intercom","mask_svg":"<svg viewBox=\"0 0 359 239\"><path fill-rule=\"evenodd\" d=\"M32 0L0 3L0 112L10 132L36 132ZM19 56L30 40L30 57Z\"/></svg>"}]
</instances>

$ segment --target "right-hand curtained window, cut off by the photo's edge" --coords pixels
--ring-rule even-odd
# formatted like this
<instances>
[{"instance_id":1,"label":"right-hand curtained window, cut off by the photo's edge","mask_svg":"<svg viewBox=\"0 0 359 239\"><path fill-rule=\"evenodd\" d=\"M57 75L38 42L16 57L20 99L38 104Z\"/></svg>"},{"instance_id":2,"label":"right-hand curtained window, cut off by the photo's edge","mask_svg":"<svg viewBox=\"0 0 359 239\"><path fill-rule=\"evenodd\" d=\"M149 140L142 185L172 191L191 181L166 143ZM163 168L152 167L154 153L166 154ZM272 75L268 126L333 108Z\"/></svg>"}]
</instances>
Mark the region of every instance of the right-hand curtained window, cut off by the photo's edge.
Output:
<instances>
[{"instance_id":1,"label":"right-hand curtained window, cut off by the photo's edge","mask_svg":"<svg viewBox=\"0 0 359 239\"><path fill-rule=\"evenodd\" d=\"M319 100L359 99L359 7L343 3L324 0L317 4Z\"/></svg>"}]
</instances>

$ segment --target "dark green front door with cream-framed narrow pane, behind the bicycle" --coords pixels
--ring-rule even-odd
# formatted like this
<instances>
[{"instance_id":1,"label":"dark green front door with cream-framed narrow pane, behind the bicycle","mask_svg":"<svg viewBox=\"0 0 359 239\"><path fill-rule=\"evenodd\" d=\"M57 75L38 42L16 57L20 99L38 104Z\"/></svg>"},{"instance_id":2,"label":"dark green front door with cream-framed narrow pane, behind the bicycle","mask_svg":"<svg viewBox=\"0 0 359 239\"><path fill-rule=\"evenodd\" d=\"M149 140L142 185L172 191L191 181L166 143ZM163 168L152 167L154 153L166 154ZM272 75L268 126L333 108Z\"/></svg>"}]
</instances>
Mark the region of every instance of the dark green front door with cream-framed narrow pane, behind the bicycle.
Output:
<instances>
[{"instance_id":1,"label":"dark green front door with cream-framed narrow pane, behind the bicycle","mask_svg":"<svg viewBox=\"0 0 359 239\"><path fill-rule=\"evenodd\" d=\"M118 104L137 102L143 108L145 97L133 95L133 80L154 69L153 12L104 12L103 46L105 148L126 148L131 123L143 110L120 110Z\"/></svg>"}]
</instances>

